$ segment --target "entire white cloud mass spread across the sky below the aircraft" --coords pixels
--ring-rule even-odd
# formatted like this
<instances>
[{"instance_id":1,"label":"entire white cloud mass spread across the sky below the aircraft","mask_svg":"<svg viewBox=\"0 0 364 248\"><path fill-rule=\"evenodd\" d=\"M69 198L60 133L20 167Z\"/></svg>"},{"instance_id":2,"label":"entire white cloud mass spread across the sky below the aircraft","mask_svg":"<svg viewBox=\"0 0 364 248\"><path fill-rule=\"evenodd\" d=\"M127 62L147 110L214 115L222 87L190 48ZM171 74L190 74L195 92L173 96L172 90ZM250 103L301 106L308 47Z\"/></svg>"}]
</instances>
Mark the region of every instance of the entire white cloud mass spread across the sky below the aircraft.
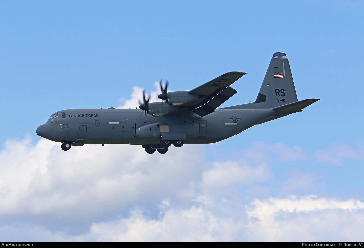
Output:
<instances>
[{"instance_id":1,"label":"entire white cloud mass spread across the sky below the aircraft","mask_svg":"<svg viewBox=\"0 0 364 248\"><path fill-rule=\"evenodd\" d=\"M8 140L0 152L3 239L355 240L363 230L363 202L294 197L317 188L320 174L291 170L272 180L270 161L306 159L298 146L253 142L239 162L206 163L198 144L147 154L133 145L64 152L30 141ZM256 196L260 185L283 193Z\"/></svg>"}]
</instances>

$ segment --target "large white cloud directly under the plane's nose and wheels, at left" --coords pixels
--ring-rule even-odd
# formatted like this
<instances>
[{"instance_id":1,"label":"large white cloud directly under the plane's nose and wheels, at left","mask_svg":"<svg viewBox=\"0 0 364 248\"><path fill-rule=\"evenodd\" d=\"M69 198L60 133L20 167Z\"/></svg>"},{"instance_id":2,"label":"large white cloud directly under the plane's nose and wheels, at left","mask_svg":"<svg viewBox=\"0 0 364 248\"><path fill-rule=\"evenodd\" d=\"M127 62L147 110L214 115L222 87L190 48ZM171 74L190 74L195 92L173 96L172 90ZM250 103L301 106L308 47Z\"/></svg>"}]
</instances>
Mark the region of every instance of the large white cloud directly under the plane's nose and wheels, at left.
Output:
<instances>
[{"instance_id":1,"label":"large white cloud directly under the plane's nose and wheels, at left","mask_svg":"<svg viewBox=\"0 0 364 248\"><path fill-rule=\"evenodd\" d=\"M189 156L196 153L201 156ZM171 147L161 155L132 145L84 145L64 152L45 139L35 146L29 139L9 140L0 153L0 215L97 219L135 202L150 204L189 187L199 176L203 154L203 145Z\"/></svg>"}]
</instances>

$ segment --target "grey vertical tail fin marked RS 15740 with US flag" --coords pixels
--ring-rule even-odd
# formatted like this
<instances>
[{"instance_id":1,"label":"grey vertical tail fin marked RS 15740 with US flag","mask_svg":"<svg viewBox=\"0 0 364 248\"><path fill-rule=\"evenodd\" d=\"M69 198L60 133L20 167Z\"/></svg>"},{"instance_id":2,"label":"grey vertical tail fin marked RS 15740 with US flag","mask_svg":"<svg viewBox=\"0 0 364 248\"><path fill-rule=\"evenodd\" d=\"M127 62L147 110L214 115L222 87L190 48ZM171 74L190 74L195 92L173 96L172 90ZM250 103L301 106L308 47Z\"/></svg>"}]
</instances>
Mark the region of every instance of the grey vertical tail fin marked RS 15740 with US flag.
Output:
<instances>
[{"instance_id":1,"label":"grey vertical tail fin marked RS 15740 with US flag","mask_svg":"<svg viewBox=\"0 0 364 248\"><path fill-rule=\"evenodd\" d=\"M291 68L285 53L274 53L254 108L274 108L297 102Z\"/></svg>"}]
</instances>

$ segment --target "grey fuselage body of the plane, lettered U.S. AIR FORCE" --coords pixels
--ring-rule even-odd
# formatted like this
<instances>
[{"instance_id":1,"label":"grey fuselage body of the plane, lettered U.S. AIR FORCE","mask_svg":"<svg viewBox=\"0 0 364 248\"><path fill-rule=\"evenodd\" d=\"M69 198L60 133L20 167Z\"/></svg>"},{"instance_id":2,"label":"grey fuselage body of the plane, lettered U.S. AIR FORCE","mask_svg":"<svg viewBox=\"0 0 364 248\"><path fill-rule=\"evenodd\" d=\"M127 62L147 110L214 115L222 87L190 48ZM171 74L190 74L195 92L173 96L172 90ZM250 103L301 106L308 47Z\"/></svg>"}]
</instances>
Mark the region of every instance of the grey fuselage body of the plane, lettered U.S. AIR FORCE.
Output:
<instances>
[{"instance_id":1,"label":"grey fuselage body of the plane, lettered U.S. AIR FORCE","mask_svg":"<svg viewBox=\"0 0 364 248\"><path fill-rule=\"evenodd\" d=\"M252 127L275 112L272 109L216 109L204 117L192 112L154 117L145 115L141 109L67 109L54 113L52 116L61 114L57 118L51 116L37 133L56 142L70 141L72 145L161 144L159 134L138 137L140 128L156 124L157 133L185 133L184 143L214 143ZM149 129L153 132L153 127Z\"/></svg>"}]
</instances>

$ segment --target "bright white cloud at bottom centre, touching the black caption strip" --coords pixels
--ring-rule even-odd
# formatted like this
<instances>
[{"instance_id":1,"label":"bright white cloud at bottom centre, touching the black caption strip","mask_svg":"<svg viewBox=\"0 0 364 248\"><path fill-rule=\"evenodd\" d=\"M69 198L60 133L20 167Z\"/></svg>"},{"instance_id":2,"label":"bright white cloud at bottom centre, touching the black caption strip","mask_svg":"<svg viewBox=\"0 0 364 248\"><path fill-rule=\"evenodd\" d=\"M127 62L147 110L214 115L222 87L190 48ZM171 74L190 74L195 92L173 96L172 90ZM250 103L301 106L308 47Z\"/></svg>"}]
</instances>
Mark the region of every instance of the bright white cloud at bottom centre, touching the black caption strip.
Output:
<instances>
[{"instance_id":1,"label":"bright white cloud at bottom centre, touching the black caption strip","mask_svg":"<svg viewBox=\"0 0 364 248\"><path fill-rule=\"evenodd\" d=\"M161 219L133 212L129 218L91 227L99 241L229 241L236 235L232 218L221 219L202 207L170 209Z\"/></svg>"}]
</instances>

